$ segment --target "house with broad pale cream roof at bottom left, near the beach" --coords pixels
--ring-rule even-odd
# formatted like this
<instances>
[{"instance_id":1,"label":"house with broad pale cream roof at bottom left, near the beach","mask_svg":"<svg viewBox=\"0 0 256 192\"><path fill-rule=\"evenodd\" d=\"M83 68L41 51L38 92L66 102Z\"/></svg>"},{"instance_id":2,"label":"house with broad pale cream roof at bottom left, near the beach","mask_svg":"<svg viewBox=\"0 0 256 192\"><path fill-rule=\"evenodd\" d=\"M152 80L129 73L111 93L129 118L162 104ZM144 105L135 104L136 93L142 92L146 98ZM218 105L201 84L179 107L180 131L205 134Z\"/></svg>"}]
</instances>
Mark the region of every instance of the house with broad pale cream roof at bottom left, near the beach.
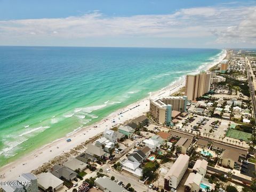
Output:
<instances>
[{"instance_id":1,"label":"house with broad pale cream roof at bottom left, near the beach","mask_svg":"<svg viewBox=\"0 0 256 192\"><path fill-rule=\"evenodd\" d=\"M37 175L37 182L38 187L43 189L44 191L49 187L52 187L53 191L57 191L63 186L64 181L55 177L52 173L46 172Z\"/></svg>"}]
</instances>

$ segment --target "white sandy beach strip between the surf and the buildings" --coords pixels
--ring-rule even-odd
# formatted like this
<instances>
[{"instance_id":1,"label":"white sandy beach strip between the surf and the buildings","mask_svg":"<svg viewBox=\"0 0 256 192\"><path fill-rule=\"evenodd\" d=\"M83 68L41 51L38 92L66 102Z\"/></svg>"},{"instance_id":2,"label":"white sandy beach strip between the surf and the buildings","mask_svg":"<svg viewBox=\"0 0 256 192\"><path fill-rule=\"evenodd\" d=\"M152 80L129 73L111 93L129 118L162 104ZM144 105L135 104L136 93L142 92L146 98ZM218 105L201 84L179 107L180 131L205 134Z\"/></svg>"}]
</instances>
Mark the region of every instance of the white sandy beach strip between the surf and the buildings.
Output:
<instances>
[{"instance_id":1,"label":"white sandy beach strip between the surf and the buildings","mask_svg":"<svg viewBox=\"0 0 256 192\"><path fill-rule=\"evenodd\" d=\"M211 67L218 65L218 63L225 58L224 55L226 57L226 51L222 50L219 57L215 59L213 63L210 63L210 65L206 66L203 63L203 68L199 67L199 69L196 70L203 70L204 68L204 70L209 70ZM149 96L144 99L114 111L100 122L82 127L82 129L74 131L72 134L69 133L70 135L67 134L63 138L54 140L51 143L47 143L41 148L35 149L31 153L25 154L23 157L4 165L0 169L0 175L5 175L3 180L12 180L16 179L22 173L31 172L44 163L48 163L54 157L63 153L67 153L76 146L81 145L81 143L85 142L86 140L93 138L99 133L102 133L106 128L122 125L131 119L145 114L149 110L149 99L166 97L179 91L183 86L185 86L185 76L181 76L179 79L177 79L177 81L170 83L168 86L163 87L161 90L150 92ZM123 113L120 114L122 111ZM115 123L113 123L114 119ZM69 138L71 139L71 142L66 141ZM78 152L80 153L81 151Z\"/></svg>"}]
</instances>

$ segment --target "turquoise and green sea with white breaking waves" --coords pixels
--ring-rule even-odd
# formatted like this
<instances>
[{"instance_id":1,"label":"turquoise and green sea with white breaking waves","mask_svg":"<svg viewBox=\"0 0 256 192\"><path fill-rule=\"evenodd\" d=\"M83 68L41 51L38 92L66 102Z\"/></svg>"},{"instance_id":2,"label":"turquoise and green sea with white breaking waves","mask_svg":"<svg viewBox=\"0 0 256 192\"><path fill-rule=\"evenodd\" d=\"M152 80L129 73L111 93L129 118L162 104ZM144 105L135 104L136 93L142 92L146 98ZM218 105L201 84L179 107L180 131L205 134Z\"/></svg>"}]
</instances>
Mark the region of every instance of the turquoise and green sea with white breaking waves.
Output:
<instances>
[{"instance_id":1,"label":"turquoise and green sea with white breaking waves","mask_svg":"<svg viewBox=\"0 0 256 192\"><path fill-rule=\"evenodd\" d=\"M218 49L0 46L0 165L203 69Z\"/></svg>"}]
</instances>

